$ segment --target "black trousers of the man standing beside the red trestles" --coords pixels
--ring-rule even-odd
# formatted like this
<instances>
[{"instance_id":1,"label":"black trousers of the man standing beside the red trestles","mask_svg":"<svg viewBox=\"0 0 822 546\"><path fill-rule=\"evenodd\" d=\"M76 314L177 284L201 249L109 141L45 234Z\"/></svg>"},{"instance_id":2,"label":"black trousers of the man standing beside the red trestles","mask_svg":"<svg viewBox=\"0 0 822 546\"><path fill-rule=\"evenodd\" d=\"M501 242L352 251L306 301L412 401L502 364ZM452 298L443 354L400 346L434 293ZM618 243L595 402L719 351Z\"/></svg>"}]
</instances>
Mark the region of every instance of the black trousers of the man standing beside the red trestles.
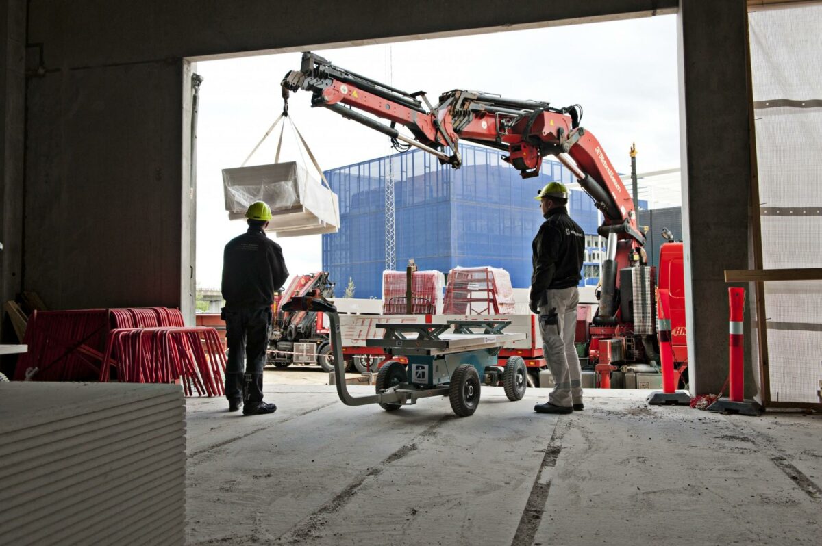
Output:
<instances>
[{"instance_id":1,"label":"black trousers of the man standing beside the red trestles","mask_svg":"<svg viewBox=\"0 0 822 546\"><path fill-rule=\"evenodd\" d=\"M270 307L225 310L225 337L229 345L225 397L229 400L243 398L252 405L262 401L262 372L271 318Z\"/></svg>"}]
</instances>

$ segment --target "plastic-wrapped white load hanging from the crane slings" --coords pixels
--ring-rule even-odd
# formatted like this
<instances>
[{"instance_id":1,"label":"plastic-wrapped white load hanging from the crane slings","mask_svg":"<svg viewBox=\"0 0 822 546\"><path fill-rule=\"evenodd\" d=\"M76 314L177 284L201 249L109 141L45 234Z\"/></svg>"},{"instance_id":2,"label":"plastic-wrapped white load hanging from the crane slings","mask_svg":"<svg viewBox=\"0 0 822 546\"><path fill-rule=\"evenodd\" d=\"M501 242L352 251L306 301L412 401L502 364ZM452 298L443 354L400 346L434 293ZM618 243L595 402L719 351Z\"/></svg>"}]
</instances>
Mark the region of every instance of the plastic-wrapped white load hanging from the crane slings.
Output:
<instances>
[{"instance_id":1,"label":"plastic-wrapped white load hanging from the crane slings","mask_svg":"<svg viewBox=\"0 0 822 546\"><path fill-rule=\"evenodd\" d=\"M339 228L337 195L294 162L223 169L225 209L245 218L248 205L264 201L272 218L267 231L279 237L334 233Z\"/></svg>"}]
</instances>

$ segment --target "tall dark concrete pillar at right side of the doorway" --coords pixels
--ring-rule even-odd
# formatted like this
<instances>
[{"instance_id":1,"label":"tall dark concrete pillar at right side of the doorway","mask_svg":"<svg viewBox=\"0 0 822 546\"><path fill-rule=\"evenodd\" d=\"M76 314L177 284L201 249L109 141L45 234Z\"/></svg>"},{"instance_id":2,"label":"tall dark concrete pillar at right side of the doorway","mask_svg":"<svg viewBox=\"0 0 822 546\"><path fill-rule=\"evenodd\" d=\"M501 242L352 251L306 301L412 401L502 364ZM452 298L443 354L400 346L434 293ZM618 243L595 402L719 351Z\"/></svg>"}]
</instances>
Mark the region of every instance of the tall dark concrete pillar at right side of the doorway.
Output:
<instances>
[{"instance_id":1,"label":"tall dark concrete pillar at right side of the doorway","mask_svg":"<svg viewBox=\"0 0 822 546\"><path fill-rule=\"evenodd\" d=\"M688 360L691 391L704 394L727 378L724 271L749 264L746 2L681 0L678 21Z\"/></svg>"}]
</instances>

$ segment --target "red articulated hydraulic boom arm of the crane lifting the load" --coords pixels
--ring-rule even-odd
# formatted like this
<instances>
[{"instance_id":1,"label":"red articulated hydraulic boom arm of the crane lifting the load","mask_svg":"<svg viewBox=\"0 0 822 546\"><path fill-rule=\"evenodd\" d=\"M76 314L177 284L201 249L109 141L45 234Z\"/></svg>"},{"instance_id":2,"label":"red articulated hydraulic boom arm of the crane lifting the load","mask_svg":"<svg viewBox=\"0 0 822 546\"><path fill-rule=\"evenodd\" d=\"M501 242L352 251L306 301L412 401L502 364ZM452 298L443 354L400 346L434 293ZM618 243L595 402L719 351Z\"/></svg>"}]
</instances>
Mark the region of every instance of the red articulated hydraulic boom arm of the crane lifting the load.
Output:
<instances>
[{"instance_id":1,"label":"red articulated hydraulic boom arm of the crane lifting the load","mask_svg":"<svg viewBox=\"0 0 822 546\"><path fill-rule=\"evenodd\" d=\"M620 246L627 247L621 250L629 251L630 262L640 261L635 250L644 245L645 237L637 229L634 202L596 137L580 126L579 105L554 108L547 102L455 89L441 94L432 106L422 91L407 93L336 67L314 53L302 54L300 70L289 71L282 87L286 103L289 90L311 91L312 106L328 108L388 135L397 149L413 145L455 168L462 163L459 140L506 151L503 159L524 178L538 176L543 157L554 155L603 212L599 234L628 240L621 241ZM395 129L398 123L409 129L413 139ZM617 254L622 253L617 250Z\"/></svg>"}]
</instances>

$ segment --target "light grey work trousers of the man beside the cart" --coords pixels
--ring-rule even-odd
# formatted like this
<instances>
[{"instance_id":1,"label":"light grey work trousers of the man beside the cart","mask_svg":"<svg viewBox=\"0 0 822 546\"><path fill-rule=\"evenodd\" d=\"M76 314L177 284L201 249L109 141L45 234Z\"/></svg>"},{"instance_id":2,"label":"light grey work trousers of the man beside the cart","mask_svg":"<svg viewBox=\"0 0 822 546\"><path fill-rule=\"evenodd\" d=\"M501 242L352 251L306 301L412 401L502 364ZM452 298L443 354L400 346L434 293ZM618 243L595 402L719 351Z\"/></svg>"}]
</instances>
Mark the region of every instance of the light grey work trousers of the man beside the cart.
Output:
<instances>
[{"instance_id":1,"label":"light grey work trousers of the man beside the cart","mask_svg":"<svg viewBox=\"0 0 822 546\"><path fill-rule=\"evenodd\" d=\"M554 406L570 407L582 403L582 369L576 354L577 287L545 291L545 305L539 306L539 332L543 335L543 356L554 377L554 390L548 401Z\"/></svg>"}]
</instances>

